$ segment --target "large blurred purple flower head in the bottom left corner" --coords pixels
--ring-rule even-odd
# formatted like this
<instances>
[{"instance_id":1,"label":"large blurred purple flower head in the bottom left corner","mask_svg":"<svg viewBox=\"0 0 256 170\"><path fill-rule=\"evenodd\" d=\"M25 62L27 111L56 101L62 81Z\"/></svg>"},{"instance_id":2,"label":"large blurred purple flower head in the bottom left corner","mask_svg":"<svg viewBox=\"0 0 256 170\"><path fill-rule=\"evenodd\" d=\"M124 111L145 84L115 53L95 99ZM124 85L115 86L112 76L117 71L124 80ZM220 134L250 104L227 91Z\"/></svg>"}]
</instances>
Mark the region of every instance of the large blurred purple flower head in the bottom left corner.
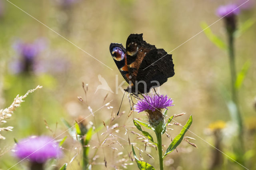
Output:
<instances>
[{"instance_id":1,"label":"large blurred purple flower head in the bottom left corner","mask_svg":"<svg viewBox=\"0 0 256 170\"><path fill-rule=\"evenodd\" d=\"M18 142L15 155L28 158L31 162L42 164L50 158L57 158L61 154L58 143L49 136L30 136Z\"/></svg>"}]
</instances>

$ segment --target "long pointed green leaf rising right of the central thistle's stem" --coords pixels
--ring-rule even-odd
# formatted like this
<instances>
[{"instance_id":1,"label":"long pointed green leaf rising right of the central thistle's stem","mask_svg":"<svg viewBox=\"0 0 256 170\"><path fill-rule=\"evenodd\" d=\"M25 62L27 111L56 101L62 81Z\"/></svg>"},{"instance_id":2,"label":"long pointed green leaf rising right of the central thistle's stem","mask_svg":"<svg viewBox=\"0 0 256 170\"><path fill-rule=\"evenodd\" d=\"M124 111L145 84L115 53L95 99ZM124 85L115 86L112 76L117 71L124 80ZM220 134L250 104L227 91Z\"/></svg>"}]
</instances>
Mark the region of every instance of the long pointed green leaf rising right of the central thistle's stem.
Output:
<instances>
[{"instance_id":1,"label":"long pointed green leaf rising right of the central thistle's stem","mask_svg":"<svg viewBox=\"0 0 256 170\"><path fill-rule=\"evenodd\" d=\"M189 117L186 125L182 128L180 134L178 134L178 136L176 136L173 140L172 143L170 144L170 146L167 148L164 156L166 156L167 154L171 153L179 144L180 142L183 140L183 137L185 135L185 133L187 132L188 128L190 127L190 125L192 124L192 116Z\"/></svg>"}]
</instances>

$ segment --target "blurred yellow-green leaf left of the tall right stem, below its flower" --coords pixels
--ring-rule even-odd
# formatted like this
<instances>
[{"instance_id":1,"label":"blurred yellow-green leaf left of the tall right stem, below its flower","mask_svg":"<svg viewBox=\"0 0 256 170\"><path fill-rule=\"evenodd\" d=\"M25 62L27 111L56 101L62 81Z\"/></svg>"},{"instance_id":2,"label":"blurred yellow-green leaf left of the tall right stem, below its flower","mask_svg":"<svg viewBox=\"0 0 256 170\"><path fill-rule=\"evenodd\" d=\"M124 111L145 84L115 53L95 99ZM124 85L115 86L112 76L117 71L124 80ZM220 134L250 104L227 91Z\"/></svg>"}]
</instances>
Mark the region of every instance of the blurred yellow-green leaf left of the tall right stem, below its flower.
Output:
<instances>
[{"instance_id":1,"label":"blurred yellow-green leaf left of the tall right stem, below its flower","mask_svg":"<svg viewBox=\"0 0 256 170\"><path fill-rule=\"evenodd\" d=\"M226 43L212 33L212 30L210 29L208 24L206 24L206 22L201 22L201 28L204 30L204 34L212 43L214 43L220 49L227 49Z\"/></svg>"}]
</instances>

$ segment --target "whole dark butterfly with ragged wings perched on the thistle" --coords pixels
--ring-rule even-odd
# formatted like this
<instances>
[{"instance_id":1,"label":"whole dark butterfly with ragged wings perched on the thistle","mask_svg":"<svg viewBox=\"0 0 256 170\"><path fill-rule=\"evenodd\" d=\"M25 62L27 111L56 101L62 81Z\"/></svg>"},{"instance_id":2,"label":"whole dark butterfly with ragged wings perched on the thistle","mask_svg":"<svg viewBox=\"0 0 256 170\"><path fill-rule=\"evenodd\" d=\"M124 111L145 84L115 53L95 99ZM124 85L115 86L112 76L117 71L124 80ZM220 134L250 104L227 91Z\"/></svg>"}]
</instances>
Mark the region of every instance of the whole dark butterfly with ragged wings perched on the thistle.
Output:
<instances>
[{"instance_id":1,"label":"whole dark butterfly with ragged wings perched on the thistle","mask_svg":"<svg viewBox=\"0 0 256 170\"><path fill-rule=\"evenodd\" d=\"M132 81L131 88L125 89L130 93L148 93L174 76L172 55L146 43L142 34L130 34L126 49L120 43L111 43L110 53L124 79Z\"/></svg>"}]
</instances>

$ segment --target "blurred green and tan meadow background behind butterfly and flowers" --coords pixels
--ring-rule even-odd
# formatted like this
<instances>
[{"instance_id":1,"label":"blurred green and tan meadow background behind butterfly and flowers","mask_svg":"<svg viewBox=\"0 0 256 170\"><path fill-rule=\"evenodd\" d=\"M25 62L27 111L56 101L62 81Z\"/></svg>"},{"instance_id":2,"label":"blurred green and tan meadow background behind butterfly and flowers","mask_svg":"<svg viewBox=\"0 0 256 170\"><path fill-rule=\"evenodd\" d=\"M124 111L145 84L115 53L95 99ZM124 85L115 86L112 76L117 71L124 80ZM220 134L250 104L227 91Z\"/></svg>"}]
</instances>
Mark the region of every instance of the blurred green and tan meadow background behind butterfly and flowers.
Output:
<instances>
[{"instance_id":1,"label":"blurred green and tan meadow background behind butterfly and flowers","mask_svg":"<svg viewBox=\"0 0 256 170\"><path fill-rule=\"evenodd\" d=\"M190 127L193 133L188 131L186 136L195 138L190 142L198 148L183 141L178 152L166 156L165 169L256 169L254 1L240 7L239 32L234 42L236 71L240 76L239 107L244 126L243 136L238 138L243 138L244 146L234 144L239 143L234 137L238 130L227 106L231 91L228 52L225 47L218 47L222 43L212 40L216 46L208 38L215 35L227 44L224 19L219 20L216 9L220 5L244 2L0 0L0 109L9 107L18 94L21 96L37 85L43 86L24 99L12 117L6 119L7 123L0 124L1 127L14 127L12 131L0 132L5 137L0 139L0 169L12 166L13 170L26 169L28 161L18 163L12 149L14 138L19 141L31 135L58 136L57 140L64 141L62 156L47 162L48 169L60 169L64 163L68 163L68 170L81 169L82 145L76 135L72 136L74 128L73 132L67 130L69 125L84 118L83 126L93 129L88 143L92 169L137 169L134 158L131 159L128 138L143 151L135 148L138 157L158 167L157 151L154 147L144 150L145 142L136 135L139 131L132 122L133 118L145 122L145 113L130 113L125 95L120 110L125 113L116 117L123 95L121 89L115 93L116 76L118 85L124 80L110 55L109 45L112 42L125 45L130 34L141 33L147 43L157 48L167 52L175 49L171 52L175 75L160 87L160 93L174 100L175 106L169 108L167 115L186 113L175 118L182 125L189 115L193 116ZM201 32L207 25L210 26L208 32ZM24 66L24 53L28 58L36 56L32 60L27 58L29 67ZM96 91L101 84L98 75L114 93L103 89ZM124 83L122 88L127 86ZM170 128L174 128L168 131L174 138L182 127L172 125ZM166 147L170 142L171 139L163 135ZM243 149L237 152L236 148Z\"/></svg>"}]
</instances>

